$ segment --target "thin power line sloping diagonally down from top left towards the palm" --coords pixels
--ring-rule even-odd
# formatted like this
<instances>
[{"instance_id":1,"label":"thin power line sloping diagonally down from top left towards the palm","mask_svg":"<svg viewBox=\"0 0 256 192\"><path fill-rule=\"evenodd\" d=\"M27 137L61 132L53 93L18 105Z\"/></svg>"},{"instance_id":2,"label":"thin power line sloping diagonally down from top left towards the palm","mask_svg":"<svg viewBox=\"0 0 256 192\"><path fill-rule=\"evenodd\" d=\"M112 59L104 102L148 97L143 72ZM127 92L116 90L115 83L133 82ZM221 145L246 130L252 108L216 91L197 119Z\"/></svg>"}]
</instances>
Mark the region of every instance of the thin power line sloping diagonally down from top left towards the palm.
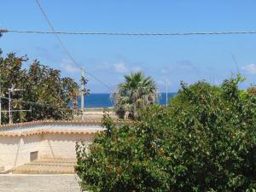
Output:
<instances>
[{"instance_id":1,"label":"thin power line sloping diagonally down from top left towards the palm","mask_svg":"<svg viewBox=\"0 0 256 192\"><path fill-rule=\"evenodd\" d=\"M37 4L38 4L38 8L40 9L40 11L42 12L42 14L44 15L44 19L47 21L50 29L52 32L52 34L55 34L55 37L57 38L58 42L61 44L62 49L65 50L66 54L68 55L68 57L71 59L71 61L73 61L73 63L76 65L76 67L79 67L79 69L82 69L83 67L80 67L79 64L77 63L77 61L75 61L75 59L73 58L73 55L71 55L71 53L69 52L69 50L67 49L67 47L65 46L65 44L63 44L63 42L61 41L61 38L58 36L59 32L55 32L55 28L54 26L51 24L51 22L49 21L48 16L46 15L46 13L44 12L43 7L41 6L41 3L39 2L39 0L36 0ZM1 30L0 30L1 32ZM100 82L101 84L103 84L105 87L107 87L109 90L113 90L110 86L108 86L108 84L105 84L101 79L97 78L96 75L94 75L93 73L90 73L89 71L86 69L85 73L89 74L91 77L93 77L94 79L96 79L98 82Z\"/></svg>"}]
</instances>

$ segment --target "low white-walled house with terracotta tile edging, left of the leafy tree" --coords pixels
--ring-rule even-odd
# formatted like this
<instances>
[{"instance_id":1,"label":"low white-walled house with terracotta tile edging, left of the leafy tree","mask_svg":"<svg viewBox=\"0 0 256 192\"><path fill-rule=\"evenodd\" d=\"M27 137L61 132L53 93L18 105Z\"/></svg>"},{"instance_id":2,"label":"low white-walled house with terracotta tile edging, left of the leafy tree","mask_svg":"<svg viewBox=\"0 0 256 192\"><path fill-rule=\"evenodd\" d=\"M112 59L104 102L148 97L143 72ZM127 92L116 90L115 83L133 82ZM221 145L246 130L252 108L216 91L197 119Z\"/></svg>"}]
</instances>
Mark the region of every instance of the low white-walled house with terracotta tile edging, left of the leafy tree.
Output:
<instances>
[{"instance_id":1,"label":"low white-walled house with terracotta tile edging, left of the leafy tree","mask_svg":"<svg viewBox=\"0 0 256 192\"><path fill-rule=\"evenodd\" d=\"M0 169L6 171L42 158L74 159L75 143L90 143L102 130L100 120L0 125Z\"/></svg>"}]
</instances>

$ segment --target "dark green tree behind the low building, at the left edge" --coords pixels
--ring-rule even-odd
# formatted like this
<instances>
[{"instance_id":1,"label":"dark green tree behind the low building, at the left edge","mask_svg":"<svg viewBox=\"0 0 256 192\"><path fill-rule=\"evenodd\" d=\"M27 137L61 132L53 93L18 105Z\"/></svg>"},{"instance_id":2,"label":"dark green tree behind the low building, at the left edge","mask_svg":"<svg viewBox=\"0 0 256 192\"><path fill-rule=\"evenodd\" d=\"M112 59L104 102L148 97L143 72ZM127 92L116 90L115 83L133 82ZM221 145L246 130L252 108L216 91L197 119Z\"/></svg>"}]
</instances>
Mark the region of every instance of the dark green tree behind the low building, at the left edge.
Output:
<instances>
[{"instance_id":1,"label":"dark green tree behind the low building, at the left edge","mask_svg":"<svg viewBox=\"0 0 256 192\"><path fill-rule=\"evenodd\" d=\"M12 94L11 106L13 110L28 110L29 112L13 113L14 122L23 122L36 119L70 119L73 117L72 108L68 102L76 102L78 84L73 79L61 78L61 72L33 61L25 69L22 67L28 59L10 53L7 57L0 55L0 83L3 97L8 97L8 88L24 89ZM28 101L28 102L20 102ZM39 105L36 102L44 105ZM2 99L2 109L8 110L9 103ZM9 121L8 113L3 113L3 123Z\"/></svg>"}]
</instances>

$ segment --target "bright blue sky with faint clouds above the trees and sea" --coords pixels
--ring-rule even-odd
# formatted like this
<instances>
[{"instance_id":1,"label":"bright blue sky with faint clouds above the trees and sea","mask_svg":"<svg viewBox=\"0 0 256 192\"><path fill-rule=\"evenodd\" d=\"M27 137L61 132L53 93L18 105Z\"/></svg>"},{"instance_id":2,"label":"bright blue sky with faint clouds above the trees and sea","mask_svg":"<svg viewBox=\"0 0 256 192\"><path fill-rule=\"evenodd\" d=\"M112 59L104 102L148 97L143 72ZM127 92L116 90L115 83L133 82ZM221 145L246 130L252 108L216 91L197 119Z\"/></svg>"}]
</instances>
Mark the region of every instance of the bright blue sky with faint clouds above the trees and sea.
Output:
<instances>
[{"instance_id":1,"label":"bright blue sky with faint clouds above the trees and sea","mask_svg":"<svg viewBox=\"0 0 256 192\"><path fill-rule=\"evenodd\" d=\"M226 32L256 31L255 0L41 0L56 31ZM0 28L50 31L36 0L0 0ZM143 71L160 91L176 92L180 82L221 84L240 72L245 89L256 84L256 34L215 36L60 35L73 58L90 75L92 93L106 93L124 75ZM79 82L80 70L54 35L5 33L3 55L27 55ZM112 88L111 90L109 89Z\"/></svg>"}]
</instances>

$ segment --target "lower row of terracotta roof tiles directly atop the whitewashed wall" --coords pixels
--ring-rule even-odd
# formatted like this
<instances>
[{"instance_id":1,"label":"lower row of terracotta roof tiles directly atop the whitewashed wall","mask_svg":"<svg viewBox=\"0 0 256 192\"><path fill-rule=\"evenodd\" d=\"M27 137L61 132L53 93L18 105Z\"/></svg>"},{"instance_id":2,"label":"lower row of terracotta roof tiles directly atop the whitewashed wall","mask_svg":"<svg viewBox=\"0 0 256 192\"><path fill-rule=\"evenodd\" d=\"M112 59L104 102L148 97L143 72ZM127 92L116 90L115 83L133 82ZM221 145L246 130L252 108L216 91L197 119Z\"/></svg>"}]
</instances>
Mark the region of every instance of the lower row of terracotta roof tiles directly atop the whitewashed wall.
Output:
<instances>
[{"instance_id":1,"label":"lower row of terracotta roof tiles directly atop the whitewashed wall","mask_svg":"<svg viewBox=\"0 0 256 192\"><path fill-rule=\"evenodd\" d=\"M100 132L99 130L37 130L37 131L24 131L24 132L5 132L0 131L0 136L3 137L27 137L32 135L44 135L44 134L83 134L83 135L91 135L96 132Z\"/></svg>"}]
</instances>

